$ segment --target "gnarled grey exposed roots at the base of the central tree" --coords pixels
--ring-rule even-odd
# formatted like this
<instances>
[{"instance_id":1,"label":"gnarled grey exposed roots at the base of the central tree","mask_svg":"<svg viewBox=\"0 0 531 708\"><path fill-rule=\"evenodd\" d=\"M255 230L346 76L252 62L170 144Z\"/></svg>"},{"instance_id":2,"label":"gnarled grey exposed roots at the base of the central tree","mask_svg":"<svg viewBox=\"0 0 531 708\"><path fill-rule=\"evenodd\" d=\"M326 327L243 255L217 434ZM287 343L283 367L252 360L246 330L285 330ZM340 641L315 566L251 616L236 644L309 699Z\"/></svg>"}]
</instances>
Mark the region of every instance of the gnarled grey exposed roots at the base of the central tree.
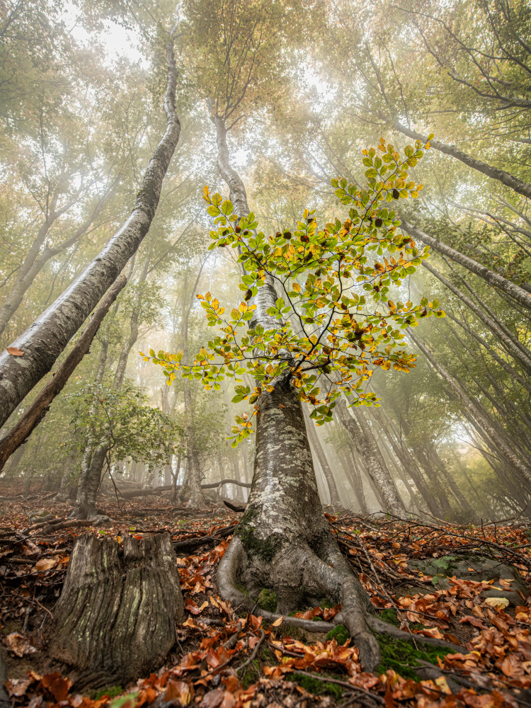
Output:
<instances>
[{"instance_id":1,"label":"gnarled grey exposed roots at the base of the central tree","mask_svg":"<svg viewBox=\"0 0 531 708\"><path fill-rule=\"evenodd\" d=\"M333 542L326 544L324 559L302 543L280 550L268 561L250 556L241 539L236 536L219 563L219 594L224 600L230 600L233 607L246 612L253 611L272 622L283 616L282 626L300 627L307 632L329 632L336 624L343 624L360 651L362 668L373 671L381 656L371 629L399 639L407 640L410 637L407 632L371 614L372 606L365 590L350 571L341 552L334 546ZM237 588L241 582L249 589L249 595ZM258 597L262 588L271 588L277 593L276 612L256 607L256 599L252 598ZM315 602L323 596L343 605L341 612L333 617L333 622L312 622L309 619L286 616L288 612L300 607L304 598ZM454 644L431 637L418 636L418 641L455 649Z\"/></svg>"}]
</instances>

